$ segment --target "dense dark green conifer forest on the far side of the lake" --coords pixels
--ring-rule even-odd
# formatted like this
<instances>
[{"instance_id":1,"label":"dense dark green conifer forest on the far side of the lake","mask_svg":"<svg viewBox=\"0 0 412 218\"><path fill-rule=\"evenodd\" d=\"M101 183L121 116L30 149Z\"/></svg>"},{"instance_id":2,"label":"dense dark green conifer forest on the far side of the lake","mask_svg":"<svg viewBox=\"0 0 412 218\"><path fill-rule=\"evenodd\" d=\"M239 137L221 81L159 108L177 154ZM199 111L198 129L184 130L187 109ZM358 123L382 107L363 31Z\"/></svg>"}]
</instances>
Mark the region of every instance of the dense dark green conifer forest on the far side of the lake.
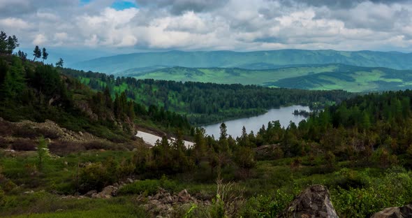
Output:
<instances>
[{"instance_id":1,"label":"dense dark green conifer forest on the far side of the lake","mask_svg":"<svg viewBox=\"0 0 412 218\"><path fill-rule=\"evenodd\" d=\"M147 107L156 105L165 110L179 112L186 115L191 124L207 124L258 115L270 108L293 104L318 109L353 96L341 90L307 91L258 85L136 80L68 68L62 71L66 75L78 78L92 89L104 90L107 87L112 91L112 95L126 92L128 99Z\"/></svg>"}]
</instances>

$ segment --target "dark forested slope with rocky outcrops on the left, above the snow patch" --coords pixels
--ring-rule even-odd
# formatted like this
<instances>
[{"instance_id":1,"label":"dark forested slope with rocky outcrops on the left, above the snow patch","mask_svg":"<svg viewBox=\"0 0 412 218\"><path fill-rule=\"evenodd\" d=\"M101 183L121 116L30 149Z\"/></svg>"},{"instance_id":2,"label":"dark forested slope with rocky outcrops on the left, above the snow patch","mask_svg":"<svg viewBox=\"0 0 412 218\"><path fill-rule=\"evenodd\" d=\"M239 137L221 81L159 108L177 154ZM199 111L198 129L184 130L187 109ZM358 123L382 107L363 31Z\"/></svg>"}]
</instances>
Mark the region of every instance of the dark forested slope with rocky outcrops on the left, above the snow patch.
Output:
<instances>
[{"instance_id":1,"label":"dark forested slope with rocky outcrops on the left, above the snow patch","mask_svg":"<svg viewBox=\"0 0 412 218\"><path fill-rule=\"evenodd\" d=\"M10 121L50 119L73 131L115 141L128 140L135 125L189 132L186 119L156 106L146 108L119 92L95 92L62 68L14 55L0 56L0 117Z\"/></svg>"}]
</instances>

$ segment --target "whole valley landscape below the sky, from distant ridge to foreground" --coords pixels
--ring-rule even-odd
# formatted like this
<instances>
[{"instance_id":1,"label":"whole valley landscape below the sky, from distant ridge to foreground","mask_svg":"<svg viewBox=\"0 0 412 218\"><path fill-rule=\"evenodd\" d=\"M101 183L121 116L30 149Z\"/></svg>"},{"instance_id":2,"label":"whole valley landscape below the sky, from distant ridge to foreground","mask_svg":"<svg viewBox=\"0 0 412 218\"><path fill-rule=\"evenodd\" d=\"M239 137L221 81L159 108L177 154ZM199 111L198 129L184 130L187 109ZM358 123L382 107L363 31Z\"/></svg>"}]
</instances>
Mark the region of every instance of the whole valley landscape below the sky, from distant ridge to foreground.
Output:
<instances>
[{"instance_id":1,"label":"whole valley landscape below the sky, from distant ridge to foreground","mask_svg":"<svg viewBox=\"0 0 412 218\"><path fill-rule=\"evenodd\" d=\"M141 52L66 68L0 35L1 217L371 217L412 202L411 53Z\"/></svg>"}]
</instances>

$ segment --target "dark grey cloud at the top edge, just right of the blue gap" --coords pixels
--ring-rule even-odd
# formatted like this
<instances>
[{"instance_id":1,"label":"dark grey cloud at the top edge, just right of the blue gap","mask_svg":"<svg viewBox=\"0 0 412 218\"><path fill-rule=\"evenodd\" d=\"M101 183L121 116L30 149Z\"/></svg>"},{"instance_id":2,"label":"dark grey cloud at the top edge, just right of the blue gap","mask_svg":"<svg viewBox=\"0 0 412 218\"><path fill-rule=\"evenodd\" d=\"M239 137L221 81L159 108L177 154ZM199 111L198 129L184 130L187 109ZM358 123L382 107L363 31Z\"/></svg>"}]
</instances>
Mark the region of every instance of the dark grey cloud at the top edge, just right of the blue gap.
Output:
<instances>
[{"instance_id":1,"label":"dark grey cloud at the top edge, just right of the blue gap","mask_svg":"<svg viewBox=\"0 0 412 218\"><path fill-rule=\"evenodd\" d=\"M186 11L207 12L226 4L228 0L136 0L138 6L168 8L174 15Z\"/></svg>"}]
</instances>

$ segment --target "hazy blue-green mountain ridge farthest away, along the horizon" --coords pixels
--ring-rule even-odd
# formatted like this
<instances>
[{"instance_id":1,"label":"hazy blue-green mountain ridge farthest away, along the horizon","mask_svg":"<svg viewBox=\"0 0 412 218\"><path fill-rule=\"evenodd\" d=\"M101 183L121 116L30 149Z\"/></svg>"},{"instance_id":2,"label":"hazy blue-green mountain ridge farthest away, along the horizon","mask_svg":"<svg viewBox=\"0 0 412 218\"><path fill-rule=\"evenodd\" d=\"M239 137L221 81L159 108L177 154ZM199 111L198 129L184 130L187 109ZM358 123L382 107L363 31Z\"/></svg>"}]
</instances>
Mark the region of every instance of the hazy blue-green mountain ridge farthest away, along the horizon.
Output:
<instances>
[{"instance_id":1,"label":"hazy blue-green mountain ridge farthest away, along the horizon","mask_svg":"<svg viewBox=\"0 0 412 218\"><path fill-rule=\"evenodd\" d=\"M412 69L412 53L337 50L268 50L255 52L143 52L101 57L72 64L84 71L119 73L134 68L183 66L189 68L247 68L268 69L302 64L347 64L352 66Z\"/></svg>"}]
</instances>

